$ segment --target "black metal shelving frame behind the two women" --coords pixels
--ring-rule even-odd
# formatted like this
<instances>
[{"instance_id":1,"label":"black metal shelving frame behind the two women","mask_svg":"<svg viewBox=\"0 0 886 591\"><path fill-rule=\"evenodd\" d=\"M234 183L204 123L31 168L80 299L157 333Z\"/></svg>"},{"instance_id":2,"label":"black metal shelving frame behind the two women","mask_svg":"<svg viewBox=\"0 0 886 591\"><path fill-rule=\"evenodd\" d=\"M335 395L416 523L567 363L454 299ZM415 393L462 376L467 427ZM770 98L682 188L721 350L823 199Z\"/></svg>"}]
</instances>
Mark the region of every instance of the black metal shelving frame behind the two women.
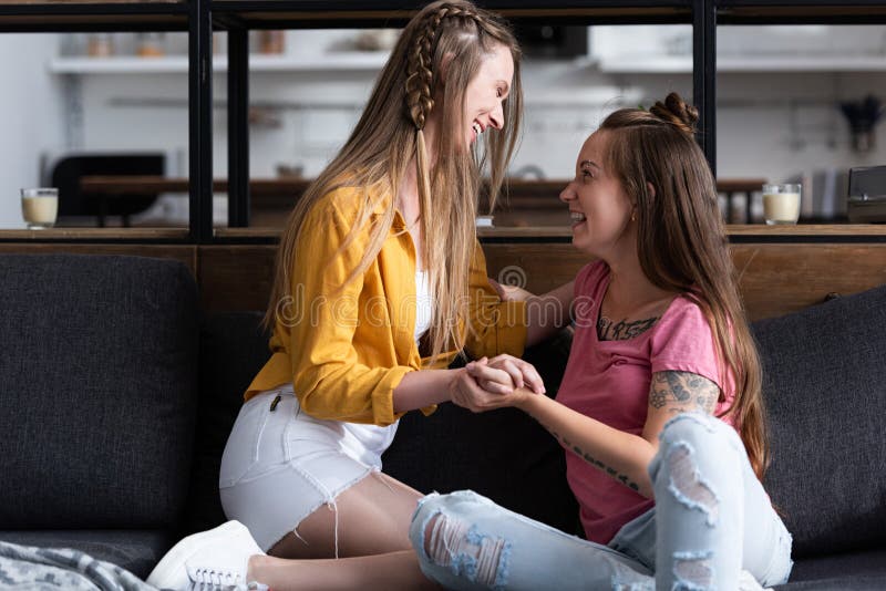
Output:
<instances>
[{"instance_id":1,"label":"black metal shelving frame behind the two women","mask_svg":"<svg viewBox=\"0 0 886 591\"><path fill-rule=\"evenodd\" d=\"M691 23L693 102L699 143L717 165L717 25L773 23L886 23L886 1L852 0L477 0L512 21L552 24ZM400 27L420 0L189 0L169 3L0 4L0 32L188 31L190 243L262 243L217 239L213 232L212 33L228 31L228 224L249 225L249 63L251 29ZM746 241L735 236L733 241ZM773 236L772 241L883 241L886 237ZM761 241L754 236L753 241ZM71 241L71 240L59 240ZM114 240L127 242L128 240ZM141 240L140 240L141 241ZM153 240L168 242L171 240ZM173 240L174 242L174 240Z\"/></svg>"}]
</instances>

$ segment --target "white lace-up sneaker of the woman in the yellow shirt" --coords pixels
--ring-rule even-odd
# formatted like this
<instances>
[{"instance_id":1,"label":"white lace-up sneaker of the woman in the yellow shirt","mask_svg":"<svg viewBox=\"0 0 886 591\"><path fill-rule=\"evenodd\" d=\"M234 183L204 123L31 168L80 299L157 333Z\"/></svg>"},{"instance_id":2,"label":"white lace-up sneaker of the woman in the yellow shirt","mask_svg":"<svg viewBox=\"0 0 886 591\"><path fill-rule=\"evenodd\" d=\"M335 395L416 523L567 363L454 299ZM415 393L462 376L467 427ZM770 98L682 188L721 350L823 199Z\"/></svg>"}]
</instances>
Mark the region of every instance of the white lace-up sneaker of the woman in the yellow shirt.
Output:
<instances>
[{"instance_id":1,"label":"white lace-up sneaker of the woman in the yellow shirt","mask_svg":"<svg viewBox=\"0 0 886 591\"><path fill-rule=\"evenodd\" d=\"M246 589L249 557L264 553L246 526L228 521L176 543L151 572L147 583L174 591L186 591L194 583L198 589Z\"/></svg>"}]
</instances>

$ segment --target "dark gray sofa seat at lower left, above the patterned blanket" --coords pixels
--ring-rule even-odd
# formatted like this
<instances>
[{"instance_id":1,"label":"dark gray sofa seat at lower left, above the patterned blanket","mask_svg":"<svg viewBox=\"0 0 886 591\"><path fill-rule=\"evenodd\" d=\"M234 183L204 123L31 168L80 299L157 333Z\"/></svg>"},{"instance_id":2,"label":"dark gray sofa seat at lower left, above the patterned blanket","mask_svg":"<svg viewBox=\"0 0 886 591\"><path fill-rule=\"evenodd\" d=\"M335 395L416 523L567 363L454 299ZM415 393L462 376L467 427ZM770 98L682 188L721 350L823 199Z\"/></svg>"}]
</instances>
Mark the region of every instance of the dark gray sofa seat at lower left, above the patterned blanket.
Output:
<instances>
[{"instance_id":1,"label":"dark gray sofa seat at lower left, above the patterned blanket","mask_svg":"<svg viewBox=\"0 0 886 591\"><path fill-rule=\"evenodd\" d=\"M40 548L73 548L142 579L176 541L163 531L122 529L0 531L0 540Z\"/></svg>"}]
</instances>

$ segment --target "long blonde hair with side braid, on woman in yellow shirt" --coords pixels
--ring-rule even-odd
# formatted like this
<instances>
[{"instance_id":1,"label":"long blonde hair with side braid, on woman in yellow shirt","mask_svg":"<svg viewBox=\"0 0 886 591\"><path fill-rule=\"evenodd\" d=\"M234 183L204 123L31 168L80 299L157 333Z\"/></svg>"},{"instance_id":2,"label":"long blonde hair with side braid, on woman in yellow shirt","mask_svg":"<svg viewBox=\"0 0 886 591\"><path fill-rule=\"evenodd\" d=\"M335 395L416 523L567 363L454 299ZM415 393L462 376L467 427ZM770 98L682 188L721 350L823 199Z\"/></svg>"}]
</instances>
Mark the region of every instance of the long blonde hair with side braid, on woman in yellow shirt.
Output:
<instances>
[{"instance_id":1,"label":"long blonde hair with side braid, on woman in yellow shirt","mask_svg":"<svg viewBox=\"0 0 886 591\"><path fill-rule=\"evenodd\" d=\"M504 45L514 60L514 80L505 98L505 127L483 134L485 145L465 147L464 91L483 60ZM523 111L521 52L509 28L498 17L465 0L433 2L405 27L382 70L369 102L339 154L308 187L289 216L277 253L277 270L265 325L277 321L277 308L292 294L290 268L308 211L337 188L358 187L361 206L341 250L369 230L369 246L351 281L378 256L394 220L394 196L415 159L419 185L423 259L429 271L433 315L430 328L431 363L452 348L461 349L467 312L467 278L476 242L480 175L490 174L494 205L507 164L517 144ZM441 74L445 63L445 84ZM441 92L442 91L442 92ZM442 104L434 97L442 95ZM442 108L435 134L433 166L427 162L424 125L432 110ZM467 122L470 123L470 122ZM457 129L459 133L449 133ZM478 144L480 142L477 142ZM371 225L371 212L384 214ZM370 227L371 225L371 227Z\"/></svg>"}]
</instances>

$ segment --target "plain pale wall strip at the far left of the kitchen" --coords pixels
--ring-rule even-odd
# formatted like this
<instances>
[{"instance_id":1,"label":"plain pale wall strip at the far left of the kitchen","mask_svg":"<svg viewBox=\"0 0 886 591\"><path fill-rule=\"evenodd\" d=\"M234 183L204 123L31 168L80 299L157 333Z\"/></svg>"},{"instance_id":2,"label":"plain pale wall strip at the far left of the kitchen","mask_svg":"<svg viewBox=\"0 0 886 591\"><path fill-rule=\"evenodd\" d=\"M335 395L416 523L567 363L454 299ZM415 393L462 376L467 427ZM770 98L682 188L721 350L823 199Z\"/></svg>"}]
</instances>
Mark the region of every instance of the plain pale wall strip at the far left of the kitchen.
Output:
<instances>
[{"instance_id":1,"label":"plain pale wall strip at the far left of the kitchen","mask_svg":"<svg viewBox=\"0 0 886 591\"><path fill-rule=\"evenodd\" d=\"M0 227L23 227L19 189L40 184L39 155L60 146L61 83L47 71L58 54L53 34L0 35Z\"/></svg>"}]
</instances>

